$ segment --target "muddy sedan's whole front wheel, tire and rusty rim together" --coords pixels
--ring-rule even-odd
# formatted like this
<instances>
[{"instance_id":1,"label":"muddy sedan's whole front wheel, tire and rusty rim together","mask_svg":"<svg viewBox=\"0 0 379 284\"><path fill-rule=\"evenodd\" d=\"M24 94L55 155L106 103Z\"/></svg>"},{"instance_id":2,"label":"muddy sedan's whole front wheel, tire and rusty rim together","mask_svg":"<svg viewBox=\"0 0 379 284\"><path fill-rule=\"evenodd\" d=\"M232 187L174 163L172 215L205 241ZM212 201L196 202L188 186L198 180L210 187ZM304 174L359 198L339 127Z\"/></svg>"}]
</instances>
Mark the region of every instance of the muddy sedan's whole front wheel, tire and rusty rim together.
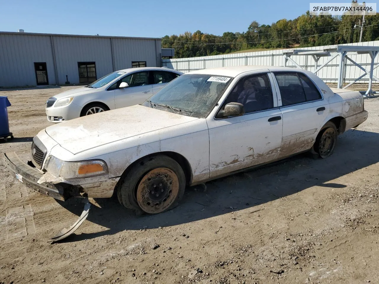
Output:
<instances>
[{"instance_id":1,"label":"muddy sedan's whole front wheel, tire and rusty rim together","mask_svg":"<svg viewBox=\"0 0 379 284\"><path fill-rule=\"evenodd\" d=\"M182 167L168 156L152 156L135 164L116 188L119 202L140 214L158 214L177 206L185 190Z\"/></svg>"}]
</instances>

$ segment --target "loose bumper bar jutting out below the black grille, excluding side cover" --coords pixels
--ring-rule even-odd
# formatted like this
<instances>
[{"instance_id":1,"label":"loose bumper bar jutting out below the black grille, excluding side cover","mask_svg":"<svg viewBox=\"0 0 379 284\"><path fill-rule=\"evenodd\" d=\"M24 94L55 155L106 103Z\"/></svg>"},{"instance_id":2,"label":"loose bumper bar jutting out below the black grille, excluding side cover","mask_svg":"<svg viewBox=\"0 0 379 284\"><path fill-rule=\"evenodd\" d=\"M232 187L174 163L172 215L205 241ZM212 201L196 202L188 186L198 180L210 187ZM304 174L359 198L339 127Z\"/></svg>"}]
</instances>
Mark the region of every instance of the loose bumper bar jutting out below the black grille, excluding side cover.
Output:
<instances>
[{"instance_id":1,"label":"loose bumper bar jutting out below the black grille, excluding side cover","mask_svg":"<svg viewBox=\"0 0 379 284\"><path fill-rule=\"evenodd\" d=\"M9 172L18 179L20 182L24 183L27 187L38 191L44 195L51 196L55 199L66 201L68 198L79 195L79 190L66 183L42 183L39 184L37 181L44 175L36 168L25 164L16 153L5 153L4 154L5 166L8 168Z\"/></svg>"}]
</instances>

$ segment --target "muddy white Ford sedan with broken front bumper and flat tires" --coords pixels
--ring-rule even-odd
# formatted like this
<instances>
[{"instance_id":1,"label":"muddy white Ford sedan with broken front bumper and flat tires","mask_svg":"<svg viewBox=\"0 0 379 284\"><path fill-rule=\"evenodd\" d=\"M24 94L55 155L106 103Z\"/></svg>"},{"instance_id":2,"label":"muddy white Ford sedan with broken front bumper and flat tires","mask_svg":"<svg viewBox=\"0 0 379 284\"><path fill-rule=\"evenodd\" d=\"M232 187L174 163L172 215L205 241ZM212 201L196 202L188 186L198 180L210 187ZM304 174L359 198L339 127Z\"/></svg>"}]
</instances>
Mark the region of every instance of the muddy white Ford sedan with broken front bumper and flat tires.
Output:
<instances>
[{"instance_id":1,"label":"muddy white Ford sedan with broken front bumper and flat tires","mask_svg":"<svg viewBox=\"0 0 379 284\"><path fill-rule=\"evenodd\" d=\"M367 119L359 92L311 72L240 66L187 73L142 105L40 131L32 163L6 153L9 171L54 198L111 197L136 212L173 208L186 185L311 151Z\"/></svg>"}]
</instances>

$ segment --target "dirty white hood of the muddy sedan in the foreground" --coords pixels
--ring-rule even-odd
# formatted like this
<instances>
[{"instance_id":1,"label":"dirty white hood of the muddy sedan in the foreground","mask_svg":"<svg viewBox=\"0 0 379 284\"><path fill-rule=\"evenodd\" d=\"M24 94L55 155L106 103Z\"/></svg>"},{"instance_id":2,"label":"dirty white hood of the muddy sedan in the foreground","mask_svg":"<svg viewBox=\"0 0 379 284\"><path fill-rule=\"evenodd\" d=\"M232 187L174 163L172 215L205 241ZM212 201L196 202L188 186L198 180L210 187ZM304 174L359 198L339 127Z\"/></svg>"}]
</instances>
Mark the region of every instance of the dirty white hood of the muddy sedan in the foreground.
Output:
<instances>
[{"instance_id":1,"label":"dirty white hood of the muddy sedan in the foreground","mask_svg":"<svg viewBox=\"0 0 379 284\"><path fill-rule=\"evenodd\" d=\"M45 131L61 147L77 154L196 119L198 118L135 105L67 120L49 126Z\"/></svg>"}]
</instances>

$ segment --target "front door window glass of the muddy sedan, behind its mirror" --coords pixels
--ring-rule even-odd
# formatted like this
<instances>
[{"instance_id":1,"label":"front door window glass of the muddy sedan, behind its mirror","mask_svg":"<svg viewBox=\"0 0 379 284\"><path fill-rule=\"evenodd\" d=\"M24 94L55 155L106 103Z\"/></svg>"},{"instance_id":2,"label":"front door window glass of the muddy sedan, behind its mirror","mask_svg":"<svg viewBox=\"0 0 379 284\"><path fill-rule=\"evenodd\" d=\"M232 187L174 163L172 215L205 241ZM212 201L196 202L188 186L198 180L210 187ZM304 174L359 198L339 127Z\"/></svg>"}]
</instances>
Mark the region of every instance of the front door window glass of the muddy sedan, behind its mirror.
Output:
<instances>
[{"instance_id":1,"label":"front door window glass of the muddy sedan, behind its mirror","mask_svg":"<svg viewBox=\"0 0 379 284\"><path fill-rule=\"evenodd\" d=\"M273 108L273 92L268 75L263 73L239 80L223 106L231 102L243 104L246 113Z\"/></svg>"}]
</instances>

